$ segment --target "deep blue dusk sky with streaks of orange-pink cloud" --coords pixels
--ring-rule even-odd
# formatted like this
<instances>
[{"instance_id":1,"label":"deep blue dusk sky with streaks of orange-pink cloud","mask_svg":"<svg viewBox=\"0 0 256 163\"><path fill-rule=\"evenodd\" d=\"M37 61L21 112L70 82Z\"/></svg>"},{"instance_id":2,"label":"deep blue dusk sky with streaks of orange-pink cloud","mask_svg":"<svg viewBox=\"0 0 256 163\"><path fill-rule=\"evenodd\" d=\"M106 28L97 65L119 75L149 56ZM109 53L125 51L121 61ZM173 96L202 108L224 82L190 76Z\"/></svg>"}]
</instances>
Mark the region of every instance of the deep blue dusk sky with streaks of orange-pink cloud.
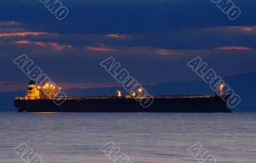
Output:
<instances>
[{"instance_id":1,"label":"deep blue dusk sky with streaks of orange-pink cloud","mask_svg":"<svg viewBox=\"0 0 256 163\"><path fill-rule=\"evenodd\" d=\"M0 92L29 81L13 59L26 54L63 88L118 85L100 62L114 57L141 84L200 80L202 57L222 78L256 72L256 1L234 0L230 20L211 0L61 0L58 20L38 0L2 0Z\"/></svg>"}]
</instances>

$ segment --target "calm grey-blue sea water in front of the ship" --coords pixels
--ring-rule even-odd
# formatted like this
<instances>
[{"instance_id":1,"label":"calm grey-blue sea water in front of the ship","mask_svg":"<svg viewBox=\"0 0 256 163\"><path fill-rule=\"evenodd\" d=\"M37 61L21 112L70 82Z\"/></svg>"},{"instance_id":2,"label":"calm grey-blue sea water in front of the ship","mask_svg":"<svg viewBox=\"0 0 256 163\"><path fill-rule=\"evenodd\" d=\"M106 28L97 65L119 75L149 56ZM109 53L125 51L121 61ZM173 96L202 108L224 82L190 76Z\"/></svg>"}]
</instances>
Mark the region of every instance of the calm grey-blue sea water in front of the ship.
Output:
<instances>
[{"instance_id":1,"label":"calm grey-blue sea water in front of the ship","mask_svg":"<svg viewBox=\"0 0 256 163\"><path fill-rule=\"evenodd\" d=\"M21 143L45 163L113 162L109 141L134 163L198 162L196 143L220 163L255 163L256 113L0 113L0 162L24 162Z\"/></svg>"}]
</instances>

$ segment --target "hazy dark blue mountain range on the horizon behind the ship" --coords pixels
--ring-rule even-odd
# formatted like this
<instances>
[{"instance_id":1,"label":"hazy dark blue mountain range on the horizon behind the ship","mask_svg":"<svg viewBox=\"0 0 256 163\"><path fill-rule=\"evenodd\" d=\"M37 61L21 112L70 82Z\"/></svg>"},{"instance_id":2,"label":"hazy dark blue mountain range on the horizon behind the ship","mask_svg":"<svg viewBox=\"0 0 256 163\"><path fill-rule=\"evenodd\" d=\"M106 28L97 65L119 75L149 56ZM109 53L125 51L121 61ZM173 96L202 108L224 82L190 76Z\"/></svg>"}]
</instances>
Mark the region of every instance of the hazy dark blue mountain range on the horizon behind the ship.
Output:
<instances>
[{"instance_id":1,"label":"hazy dark blue mountain range on the horizon behind the ship","mask_svg":"<svg viewBox=\"0 0 256 163\"><path fill-rule=\"evenodd\" d=\"M223 79L241 97L239 106L234 112L256 112L256 73L239 74ZM152 95L186 95L186 94L215 94L204 81L168 82L157 85L144 85L145 89ZM123 90L122 87L102 87L97 89L67 89L63 90L68 96L103 96L109 90ZM16 111L13 106L13 98L24 96L26 90L19 92L8 92L0 94L0 111ZM207 109L207 108L205 108Z\"/></svg>"}]
</instances>

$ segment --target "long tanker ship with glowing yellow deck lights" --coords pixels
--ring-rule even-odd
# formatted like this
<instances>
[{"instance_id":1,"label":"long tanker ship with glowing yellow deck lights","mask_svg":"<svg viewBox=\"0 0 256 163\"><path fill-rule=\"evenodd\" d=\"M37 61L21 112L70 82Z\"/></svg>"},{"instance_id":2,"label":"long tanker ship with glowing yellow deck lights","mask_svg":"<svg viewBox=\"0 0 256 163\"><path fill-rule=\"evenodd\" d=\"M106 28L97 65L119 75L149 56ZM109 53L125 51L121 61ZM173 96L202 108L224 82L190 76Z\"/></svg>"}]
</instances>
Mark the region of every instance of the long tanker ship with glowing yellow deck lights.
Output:
<instances>
[{"instance_id":1,"label":"long tanker ship with glowing yellow deck lights","mask_svg":"<svg viewBox=\"0 0 256 163\"><path fill-rule=\"evenodd\" d=\"M58 96L59 87L36 86L29 81L25 97L15 97L18 112L158 112L158 113L231 113L222 95L143 96L136 92L114 90L107 96ZM127 93L127 92L126 92ZM137 94L136 94L137 93ZM225 95L227 96L227 95ZM147 107L143 103L152 100Z\"/></svg>"}]
</instances>

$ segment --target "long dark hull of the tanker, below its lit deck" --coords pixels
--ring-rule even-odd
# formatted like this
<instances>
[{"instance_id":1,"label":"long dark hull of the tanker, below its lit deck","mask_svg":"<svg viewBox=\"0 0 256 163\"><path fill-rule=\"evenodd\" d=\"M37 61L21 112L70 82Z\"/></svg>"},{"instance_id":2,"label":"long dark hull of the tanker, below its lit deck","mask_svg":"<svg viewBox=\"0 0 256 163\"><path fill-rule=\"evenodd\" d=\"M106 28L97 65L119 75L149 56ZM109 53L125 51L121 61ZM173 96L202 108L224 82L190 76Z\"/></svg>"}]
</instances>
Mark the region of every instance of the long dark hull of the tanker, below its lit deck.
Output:
<instances>
[{"instance_id":1,"label":"long dark hull of the tanker, below its lit deck","mask_svg":"<svg viewBox=\"0 0 256 163\"><path fill-rule=\"evenodd\" d=\"M66 99L60 106L52 99L15 99L19 112L163 112L163 113L230 113L225 101L212 97L155 98L148 108L135 99Z\"/></svg>"}]
</instances>

